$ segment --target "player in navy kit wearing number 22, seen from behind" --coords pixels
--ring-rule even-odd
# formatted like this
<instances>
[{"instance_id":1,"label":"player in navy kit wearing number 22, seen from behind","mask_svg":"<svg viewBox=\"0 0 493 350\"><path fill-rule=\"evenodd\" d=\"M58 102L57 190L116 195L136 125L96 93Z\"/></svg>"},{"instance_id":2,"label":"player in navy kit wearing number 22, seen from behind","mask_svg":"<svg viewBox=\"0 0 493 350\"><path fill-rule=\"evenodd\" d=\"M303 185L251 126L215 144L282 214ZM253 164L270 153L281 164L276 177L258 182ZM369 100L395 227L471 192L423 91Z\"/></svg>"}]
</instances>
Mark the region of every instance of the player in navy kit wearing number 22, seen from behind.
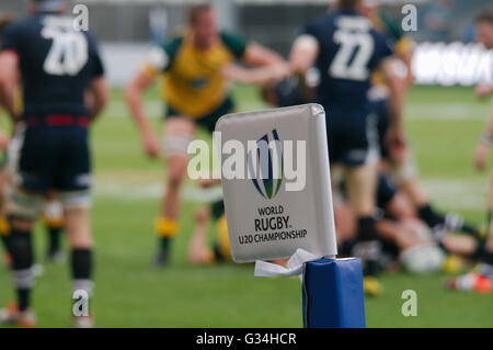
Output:
<instances>
[{"instance_id":1,"label":"player in navy kit wearing number 22, seen from behind","mask_svg":"<svg viewBox=\"0 0 493 350\"><path fill-rule=\"evenodd\" d=\"M357 239L366 246L362 258L365 284L370 289L378 283L374 278L378 256L374 213L379 159L367 125L371 74L381 69L390 88L392 121L386 139L391 144L403 143L402 95L391 74L388 38L358 11L358 0L337 1L334 12L303 29L293 45L290 61L291 68L302 76L313 65L320 71L316 100L326 111L332 179L336 178L335 172L344 172L349 204L357 217Z\"/></svg>"}]
</instances>

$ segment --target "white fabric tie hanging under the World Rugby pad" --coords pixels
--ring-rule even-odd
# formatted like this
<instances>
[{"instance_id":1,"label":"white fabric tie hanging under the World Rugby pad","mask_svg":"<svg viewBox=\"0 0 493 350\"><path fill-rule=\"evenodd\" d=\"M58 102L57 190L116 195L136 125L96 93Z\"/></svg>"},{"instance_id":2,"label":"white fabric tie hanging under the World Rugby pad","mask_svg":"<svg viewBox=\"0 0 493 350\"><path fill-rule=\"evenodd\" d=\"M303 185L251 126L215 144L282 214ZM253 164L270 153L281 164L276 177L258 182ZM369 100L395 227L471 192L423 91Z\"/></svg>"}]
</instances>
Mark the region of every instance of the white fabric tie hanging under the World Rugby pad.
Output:
<instances>
[{"instance_id":1,"label":"white fabric tie hanging under the World Rugby pad","mask_svg":"<svg viewBox=\"0 0 493 350\"><path fill-rule=\"evenodd\" d=\"M284 268L277 263L266 262L262 260L255 261L255 272L253 273L257 278L273 278L277 275L293 276L297 275L302 280L303 264L308 261L319 259L316 255L308 252L303 249L297 249L296 252L289 258L287 267Z\"/></svg>"}]
</instances>

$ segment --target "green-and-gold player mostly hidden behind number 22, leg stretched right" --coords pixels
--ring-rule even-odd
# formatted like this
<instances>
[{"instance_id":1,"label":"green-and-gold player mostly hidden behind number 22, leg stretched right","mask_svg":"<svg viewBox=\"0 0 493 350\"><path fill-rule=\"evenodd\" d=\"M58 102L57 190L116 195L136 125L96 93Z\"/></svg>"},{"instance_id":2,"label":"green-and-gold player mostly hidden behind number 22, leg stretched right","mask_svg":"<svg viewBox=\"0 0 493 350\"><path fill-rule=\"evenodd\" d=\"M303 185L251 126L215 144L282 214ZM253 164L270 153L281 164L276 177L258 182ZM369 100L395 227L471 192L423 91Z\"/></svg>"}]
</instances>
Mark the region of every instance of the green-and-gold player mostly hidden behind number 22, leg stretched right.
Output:
<instances>
[{"instance_id":1,"label":"green-and-gold player mostly hidden behind number 22, leg stretched right","mask_svg":"<svg viewBox=\"0 0 493 350\"><path fill-rule=\"evenodd\" d=\"M403 95L412 87L411 60L414 43L404 35L398 23L391 21L385 12L380 11L380 1L364 1L364 11L371 20L375 27L386 33L393 42L395 60L392 74L400 82ZM423 189L417 178L415 161L409 143L389 147L385 142L387 127L391 116L389 115L388 87L380 71L372 75L372 87L368 91L370 102L370 115L375 118L381 162L380 168L392 178L399 190L402 191L415 207L416 215L436 234L444 232L463 232L472 236L480 235L474 225L466 223L462 217L454 213L442 214L431 202L429 195ZM403 101L402 101L403 102ZM397 146L397 147L395 147Z\"/></svg>"}]
</instances>

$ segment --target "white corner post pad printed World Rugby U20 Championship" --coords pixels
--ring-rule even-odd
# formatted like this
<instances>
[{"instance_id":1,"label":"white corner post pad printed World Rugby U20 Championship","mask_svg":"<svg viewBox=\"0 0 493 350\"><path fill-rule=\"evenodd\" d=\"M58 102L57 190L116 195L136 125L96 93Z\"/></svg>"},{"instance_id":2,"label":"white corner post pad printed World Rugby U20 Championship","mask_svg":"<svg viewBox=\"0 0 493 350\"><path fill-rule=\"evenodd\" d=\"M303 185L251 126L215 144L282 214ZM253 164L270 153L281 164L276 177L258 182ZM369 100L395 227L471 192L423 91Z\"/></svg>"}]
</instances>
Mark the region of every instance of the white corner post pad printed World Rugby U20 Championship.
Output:
<instances>
[{"instance_id":1,"label":"white corner post pad printed World Rugby U20 Championship","mask_svg":"<svg viewBox=\"0 0 493 350\"><path fill-rule=\"evenodd\" d=\"M255 275L297 275L306 261L335 257L323 108L227 114L216 132L233 261L290 258L288 271L259 261Z\"/></svg>"}]
</instances>

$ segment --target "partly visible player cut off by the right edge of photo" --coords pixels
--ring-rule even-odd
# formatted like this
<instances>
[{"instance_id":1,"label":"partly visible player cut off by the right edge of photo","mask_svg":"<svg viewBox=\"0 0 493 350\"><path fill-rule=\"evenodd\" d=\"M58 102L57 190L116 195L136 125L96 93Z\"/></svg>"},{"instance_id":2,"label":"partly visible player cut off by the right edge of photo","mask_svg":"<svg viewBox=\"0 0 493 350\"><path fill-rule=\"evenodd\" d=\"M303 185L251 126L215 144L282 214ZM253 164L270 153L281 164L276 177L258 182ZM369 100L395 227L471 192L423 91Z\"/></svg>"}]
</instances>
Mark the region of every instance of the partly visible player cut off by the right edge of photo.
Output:
<instances>
[{"instance_id":1,"label":"partly visible player cut off by the right edge of photo","mask_svg":"<svg viewBox=\"0 0 493 350\"><path fill-rule=\"evenodd\" d=\"M493 48L493 12L481 13L475 21L477 41L485 48ZM475 88L475 93L481 97L491 97L493 87L481 83ZM493 104L490 120L478 143L474 154L474 165L479 170L484 170L486 157L493 140ZM447 281L446 286L454 290L477 291L491 293L493 291L493 173L490 176L488 193L488 237L469 246L470 253L481 263L475 271Z\"/></svg>"}]
</instances>

